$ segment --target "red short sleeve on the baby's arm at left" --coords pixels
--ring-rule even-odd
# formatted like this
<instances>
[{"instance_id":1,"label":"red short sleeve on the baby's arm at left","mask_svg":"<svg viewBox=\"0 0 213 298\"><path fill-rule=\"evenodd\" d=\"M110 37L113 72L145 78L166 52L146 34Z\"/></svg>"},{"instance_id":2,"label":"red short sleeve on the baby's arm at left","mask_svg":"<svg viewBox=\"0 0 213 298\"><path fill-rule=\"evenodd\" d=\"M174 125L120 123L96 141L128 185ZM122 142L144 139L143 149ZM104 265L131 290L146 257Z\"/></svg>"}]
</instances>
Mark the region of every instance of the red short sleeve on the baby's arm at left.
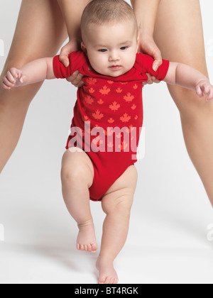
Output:
<instances>
[{"instance_id":1,"label":"red short sleeve on the baby's arm at left","mask_svg":"<svg viewBox=\"0 0 213 298\"><path fill-rule=\"evenodd\" d=\"M82 51L72 52L69 55L70 65L65 67L59 60L59 55L53 58L53 71L57 79L65 79L70 77L76 70L82 73L82 66L85 63L85 56ZM84 75L82 73L82 75Z\"/></svg>"}]
</instances>

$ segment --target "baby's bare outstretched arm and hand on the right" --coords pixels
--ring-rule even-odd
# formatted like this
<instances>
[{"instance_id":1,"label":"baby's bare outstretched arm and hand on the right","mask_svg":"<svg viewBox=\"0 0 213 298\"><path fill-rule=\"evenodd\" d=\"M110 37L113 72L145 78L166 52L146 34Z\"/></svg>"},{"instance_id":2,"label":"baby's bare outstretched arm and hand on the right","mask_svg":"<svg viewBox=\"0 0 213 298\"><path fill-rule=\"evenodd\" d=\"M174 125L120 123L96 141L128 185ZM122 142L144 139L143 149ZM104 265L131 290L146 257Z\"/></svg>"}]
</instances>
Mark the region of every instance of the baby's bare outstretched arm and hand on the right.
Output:
<instances>
[{"instance_id":1,"label":"baby's bare outstretched arm and hand on the right","mask_svg":"<svg viewBox=\"0 0 213 298\"><path fill-rule=\"evenodd\" d=\"M168 74L164 81L168 84L176 84L195 90L200 97L206 95L207 101L213 99L213 86L210 84L209 79L188 65L170 62Z\"/></svg>"}]
</instances>

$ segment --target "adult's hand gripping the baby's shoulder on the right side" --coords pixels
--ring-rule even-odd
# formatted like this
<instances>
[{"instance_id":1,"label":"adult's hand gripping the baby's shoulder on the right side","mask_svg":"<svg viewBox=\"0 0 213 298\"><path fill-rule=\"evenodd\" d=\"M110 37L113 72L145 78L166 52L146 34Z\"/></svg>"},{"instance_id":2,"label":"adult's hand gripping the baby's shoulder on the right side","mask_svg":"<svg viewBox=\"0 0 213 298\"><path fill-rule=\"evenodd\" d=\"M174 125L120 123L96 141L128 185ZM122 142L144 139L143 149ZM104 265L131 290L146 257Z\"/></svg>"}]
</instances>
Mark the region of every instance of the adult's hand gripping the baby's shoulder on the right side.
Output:
<instances>
[{"instance_id":1,"label":"adult's hand gripping the baby's shoulder on the right side","mask_svg":"<svg viewBox=\"0 0 213 298\"><path fill-rule=\"evenodd\" d=\"M144 37L143 35L139 35L138 51L139 51L139 53L144 53L144 54L147 54L147 55L150 55L151 57L153 57L153 59L155 60L153 62L153 70L154 71L157 71L158 67L160 67L160 65L162 65L162 63L163 63L162 56L161 56L158 46L155 44L155 41L153 40L153 37L151 37L151 36ZM143 85L153 84L153 83L158 84L160 82L155 77L151 77L151 75L149 75L149 74L146 74L146 75L148 76L148 81L143 82Z\"/></svg>"}]
</instances>

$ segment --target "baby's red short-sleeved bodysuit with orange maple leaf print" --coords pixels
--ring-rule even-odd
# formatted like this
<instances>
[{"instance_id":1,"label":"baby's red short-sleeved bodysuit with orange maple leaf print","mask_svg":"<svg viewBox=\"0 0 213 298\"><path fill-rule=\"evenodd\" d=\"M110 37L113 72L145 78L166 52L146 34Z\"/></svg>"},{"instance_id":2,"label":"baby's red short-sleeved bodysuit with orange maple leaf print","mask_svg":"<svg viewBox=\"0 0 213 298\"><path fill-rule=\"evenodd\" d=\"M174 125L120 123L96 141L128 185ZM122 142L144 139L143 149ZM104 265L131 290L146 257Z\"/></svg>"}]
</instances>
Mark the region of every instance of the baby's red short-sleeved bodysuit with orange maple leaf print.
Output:
<instances>
[{"instance_id":1,"label":"baby's red short-sleeved bodysuit with orange maple leaf print","mask_svg":"<svg viewBox=\"0 0 213 298\"><path fill-rule=\"evenodd\" d=\"M90 199L101 201L109 187L137 161L146 72L161 81L167 75L169 61L163 60L163 65L154 72L153 58L137 54L129 72L107 77L89 70L89 60L82 51L70 55L69 67L64 67L58 57L53 59L55 77L67 78L76 70L84 75L84 86L77 91L66 149L81 145L89 155L94 166Z\"/></svg>"}]
</instances>

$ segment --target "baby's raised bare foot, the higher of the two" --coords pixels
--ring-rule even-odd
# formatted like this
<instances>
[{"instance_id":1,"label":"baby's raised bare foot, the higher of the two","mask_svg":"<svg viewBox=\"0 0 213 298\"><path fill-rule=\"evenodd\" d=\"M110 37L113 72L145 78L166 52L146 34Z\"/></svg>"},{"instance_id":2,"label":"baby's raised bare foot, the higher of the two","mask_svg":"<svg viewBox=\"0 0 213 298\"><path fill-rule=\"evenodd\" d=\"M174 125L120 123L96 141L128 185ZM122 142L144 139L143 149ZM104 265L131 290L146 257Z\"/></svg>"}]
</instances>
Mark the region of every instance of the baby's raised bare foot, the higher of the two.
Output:
<instances>
[{"instance_id":1,"label":"baby's raised bare foot, the higher of the two","mask_svg":"<svg viewBox=\"0 0 213 298\"><path fill-rule=\"evenodd\" d=\"M93 221L78 225L79 233L77 236L77 250L89 251L89 253L97 252L97 242L94 233Z\"/></svg>"}]
</instances>

